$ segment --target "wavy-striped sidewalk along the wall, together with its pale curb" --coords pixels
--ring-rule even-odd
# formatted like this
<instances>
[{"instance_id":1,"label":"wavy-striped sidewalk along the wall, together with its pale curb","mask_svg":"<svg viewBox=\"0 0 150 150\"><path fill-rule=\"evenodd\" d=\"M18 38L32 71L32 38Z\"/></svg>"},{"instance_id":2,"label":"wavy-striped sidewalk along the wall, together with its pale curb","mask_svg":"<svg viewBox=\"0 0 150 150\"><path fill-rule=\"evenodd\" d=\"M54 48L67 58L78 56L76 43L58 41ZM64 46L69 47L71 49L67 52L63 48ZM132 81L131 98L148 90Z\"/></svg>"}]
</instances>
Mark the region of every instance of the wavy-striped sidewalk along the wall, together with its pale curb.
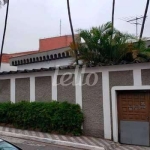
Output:
<instances>
[{"instance_id":1,"label":"wavy-striped sidewalk along the wall, together with its pale curb","mask_svg":"<svg viewBox=\"0 0 150 150\"><path fill-rule=\"evenodd\" d=\"M109 140L94 137L55 135L7 127L0 127L1 135L89 150L150 150L150 148L120 145Z\"/></svg>"}]
</instances>

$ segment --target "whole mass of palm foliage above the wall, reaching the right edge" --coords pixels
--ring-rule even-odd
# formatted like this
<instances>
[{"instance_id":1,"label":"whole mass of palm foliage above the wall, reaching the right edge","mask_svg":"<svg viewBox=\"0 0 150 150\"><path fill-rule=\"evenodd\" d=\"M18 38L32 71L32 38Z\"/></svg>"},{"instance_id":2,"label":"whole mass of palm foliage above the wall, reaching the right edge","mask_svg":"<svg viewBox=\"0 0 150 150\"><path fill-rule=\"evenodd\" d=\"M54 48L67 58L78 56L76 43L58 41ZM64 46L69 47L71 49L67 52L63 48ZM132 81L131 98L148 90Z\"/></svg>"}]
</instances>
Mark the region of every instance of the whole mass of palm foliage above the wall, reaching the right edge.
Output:
<instances>
[{"instance_id":1,"label":"whole mass of palm foliage above the wall, reaching the right edge","mask_svg":"<svg viewBox=\"0 0 150 150\"><path fill-rule=\"evenodd\" d=\"M149 60L146 47L139 47L138 43L133 43L136 37L130 34L121 33L115 28L112 33L111 22L90 30L79 30L79 36L84 43L77 44L80 54L78 59L84 64L116 65Z\"/></svg>"}]
</instances>

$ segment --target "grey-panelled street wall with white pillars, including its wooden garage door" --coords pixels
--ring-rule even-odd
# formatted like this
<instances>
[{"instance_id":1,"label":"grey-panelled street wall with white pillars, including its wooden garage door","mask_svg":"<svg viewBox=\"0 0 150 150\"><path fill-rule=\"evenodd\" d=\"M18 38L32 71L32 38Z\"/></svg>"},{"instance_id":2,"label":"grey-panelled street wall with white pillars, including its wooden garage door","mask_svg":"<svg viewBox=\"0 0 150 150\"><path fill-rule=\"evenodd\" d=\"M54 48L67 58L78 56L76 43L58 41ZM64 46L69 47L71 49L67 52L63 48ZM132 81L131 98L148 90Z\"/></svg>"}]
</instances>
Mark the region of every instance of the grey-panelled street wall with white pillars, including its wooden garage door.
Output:
<instances>
[{"instance_id":1,"label":"grey-panelled street wall with white pillars, including its wooden garage door","mask_svg":"<svg viewBox=\"0 0 150 150\"><path fill-rule=\"evenodd\" d=\"M0 102L76 103L84 113L85 135L150 146L149 75L150 63L3 72L0 73ZM74 84L59 84L61 77Z\"/></svg>"}]
</instances>

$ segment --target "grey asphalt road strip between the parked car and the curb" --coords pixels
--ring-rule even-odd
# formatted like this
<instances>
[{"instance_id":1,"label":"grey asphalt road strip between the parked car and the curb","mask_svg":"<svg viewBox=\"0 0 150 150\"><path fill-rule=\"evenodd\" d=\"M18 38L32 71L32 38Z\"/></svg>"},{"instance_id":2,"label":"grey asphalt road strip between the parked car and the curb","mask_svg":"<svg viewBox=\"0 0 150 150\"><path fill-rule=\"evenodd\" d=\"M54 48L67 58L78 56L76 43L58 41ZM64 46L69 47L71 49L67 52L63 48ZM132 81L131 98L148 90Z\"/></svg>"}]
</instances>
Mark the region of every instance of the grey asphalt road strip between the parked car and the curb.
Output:
<instances>
[{"instance_id":1,"label":"grey asphalt road strip between the parked car and the curb","mask_svg":"<svg viewBox=\"0 0 150 150\"><path fill-rule=\"evenodd\" d=\"M69 147L63 147L63 146L57 146L57 145L50 145L40 142L35 142L31 140L23 140L18 138L11 138L6 136L0 136L1 139L4 139L10 143L13 143L14 145L20 147L23 150L81 150L81 149L75 149L75 148L69 148Z\"/></svg>"}]
</instances>

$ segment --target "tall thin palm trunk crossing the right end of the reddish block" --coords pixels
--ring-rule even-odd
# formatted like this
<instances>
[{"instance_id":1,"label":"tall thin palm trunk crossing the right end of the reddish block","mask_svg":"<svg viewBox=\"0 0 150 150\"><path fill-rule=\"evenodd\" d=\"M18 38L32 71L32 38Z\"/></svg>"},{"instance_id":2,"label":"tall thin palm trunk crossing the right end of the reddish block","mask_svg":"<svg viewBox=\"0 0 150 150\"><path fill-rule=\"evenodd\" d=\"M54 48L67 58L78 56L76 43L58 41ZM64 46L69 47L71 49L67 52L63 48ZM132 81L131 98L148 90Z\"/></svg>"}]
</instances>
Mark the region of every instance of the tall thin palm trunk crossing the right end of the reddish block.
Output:
<instances>
[{"instance_id":1,"label":"tall thin palm trunk crossing the right end of the reddish block","mask_svg":"<svg viewBox=\"0 0 150 150\"><path fill-rule=\"evenodd\" d=\"M70 12L69 0L67 0L67 8L68 8L68 16L69 16L71 33L72 33L73 45L74 45L74 48L75 48L74 51L75 51L75 57L76 57L76 64L78 65L78 52L77 52L77 48L76 48L75 36L74 36L73 25L72 25L72 20L71 20L71 12Z\"/></svg>"}]
</instances>

